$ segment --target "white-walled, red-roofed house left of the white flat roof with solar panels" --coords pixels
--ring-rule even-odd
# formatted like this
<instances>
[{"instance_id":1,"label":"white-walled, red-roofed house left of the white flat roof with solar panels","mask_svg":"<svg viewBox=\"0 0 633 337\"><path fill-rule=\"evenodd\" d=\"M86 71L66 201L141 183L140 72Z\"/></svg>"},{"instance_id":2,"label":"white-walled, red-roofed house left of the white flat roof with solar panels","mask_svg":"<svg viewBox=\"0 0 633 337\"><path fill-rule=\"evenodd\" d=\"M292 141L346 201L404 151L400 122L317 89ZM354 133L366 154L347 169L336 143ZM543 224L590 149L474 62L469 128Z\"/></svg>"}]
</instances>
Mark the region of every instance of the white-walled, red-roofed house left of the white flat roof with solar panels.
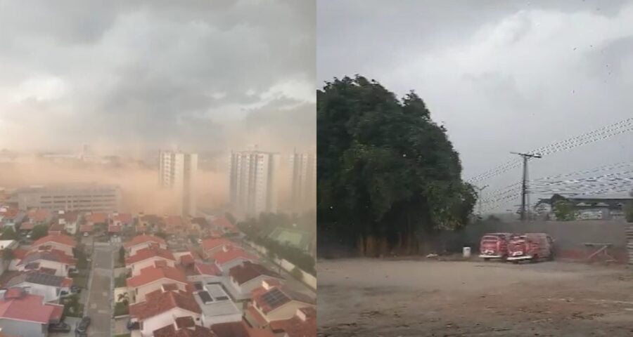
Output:
<instances>
[{"instance_id":1,"label":"white-walled, red-roofed house left of the white flat roof with solar panels","mask_svg":"<svg viewBox=\"0 0 633 337\"><path fill-rule=\"evenodd\" d=\"M193 294L186 291L158 289L147 294L146 300L129 305L130 321L138 323L141 336L153 336L154 331L191 317L194 325L201 325L201 311ZM188 319L187 319L188 320ZM179 322L191 327L191 322Z\"/></svg>"}]
</instances>

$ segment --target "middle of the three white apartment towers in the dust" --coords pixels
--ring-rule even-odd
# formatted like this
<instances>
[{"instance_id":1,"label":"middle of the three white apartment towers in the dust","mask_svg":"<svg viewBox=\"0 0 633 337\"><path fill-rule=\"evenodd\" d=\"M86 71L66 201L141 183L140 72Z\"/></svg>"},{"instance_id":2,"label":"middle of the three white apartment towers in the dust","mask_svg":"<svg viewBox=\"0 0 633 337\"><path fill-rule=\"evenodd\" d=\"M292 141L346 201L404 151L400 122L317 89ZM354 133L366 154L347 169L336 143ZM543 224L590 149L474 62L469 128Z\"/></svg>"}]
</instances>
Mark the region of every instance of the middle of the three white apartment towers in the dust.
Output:
<instances>
[{"instance_id":1,"label":"middle of the three white apartment towers in the dust","mask_svg":"<svg viewBox=\"0 0 633 337\"><path fill-rule=\"evenodd\" d=\"M245 216L277 209L276 171L279 157L257 150L231 152L229 194L231 206Z\"/></svg>"}]
</instances>

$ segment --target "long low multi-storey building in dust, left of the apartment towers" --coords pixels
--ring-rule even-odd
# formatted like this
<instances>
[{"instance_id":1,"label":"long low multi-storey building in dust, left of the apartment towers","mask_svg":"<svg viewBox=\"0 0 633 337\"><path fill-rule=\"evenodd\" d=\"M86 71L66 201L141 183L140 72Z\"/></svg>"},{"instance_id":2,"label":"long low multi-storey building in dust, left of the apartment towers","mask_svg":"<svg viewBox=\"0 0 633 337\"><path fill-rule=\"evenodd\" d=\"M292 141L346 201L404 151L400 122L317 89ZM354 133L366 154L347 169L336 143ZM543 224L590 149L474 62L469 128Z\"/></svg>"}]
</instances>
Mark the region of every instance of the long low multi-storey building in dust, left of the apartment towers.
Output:
<instances>
[{"instance_id":1,"label":"long low multi-storey building in dust, left of the apartment towers","mask_svg":"<svg viewBox=\"0 0 633 337\"><path fill-rule=\"evenodd\" d=\"M15 192L18 208L50 211L118 211L121 190L113 185L75 184L27 187Z\"/></svg>"}]
</instances>

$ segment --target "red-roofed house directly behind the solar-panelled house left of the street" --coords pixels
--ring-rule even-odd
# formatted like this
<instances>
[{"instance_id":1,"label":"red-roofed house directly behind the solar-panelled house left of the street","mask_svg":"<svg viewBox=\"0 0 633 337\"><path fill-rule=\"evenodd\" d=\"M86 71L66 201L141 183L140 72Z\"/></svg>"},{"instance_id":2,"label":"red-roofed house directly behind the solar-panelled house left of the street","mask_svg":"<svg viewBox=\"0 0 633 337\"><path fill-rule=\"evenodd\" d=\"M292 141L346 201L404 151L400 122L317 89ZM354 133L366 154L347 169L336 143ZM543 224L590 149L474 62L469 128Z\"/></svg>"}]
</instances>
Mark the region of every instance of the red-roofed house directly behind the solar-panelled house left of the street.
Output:
<instances>
[{"instance_id":1,"label":"red-roofed house directly behind the solar-panelled house left of the street","mask_svg":"<svg viewBox=\"0 0 633 337\"><path fill-rule=\"evenodd\" d=\"M63 251L51 249L47 251L30 251L18 262L20 272L39 270L51 275L66 277L77 267L77 260Z\"/></svg>"}]
</instances>

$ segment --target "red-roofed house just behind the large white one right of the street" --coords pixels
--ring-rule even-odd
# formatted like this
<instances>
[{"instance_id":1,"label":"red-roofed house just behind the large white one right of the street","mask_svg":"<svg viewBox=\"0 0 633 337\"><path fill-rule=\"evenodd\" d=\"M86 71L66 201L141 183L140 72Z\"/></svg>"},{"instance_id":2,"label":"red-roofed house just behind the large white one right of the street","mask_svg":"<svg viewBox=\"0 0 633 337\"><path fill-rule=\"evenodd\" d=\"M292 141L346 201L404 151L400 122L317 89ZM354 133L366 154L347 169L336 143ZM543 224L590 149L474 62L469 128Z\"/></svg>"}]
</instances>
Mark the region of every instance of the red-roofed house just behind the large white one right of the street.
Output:
<instances>
[{"instance_id":1,"label":"red-roofed house just behind the large white one right of the street","mask_svg":"<svg viewBox=\"0 0 633 337\"><path fill-rule=\"evenodd\" d=\"M129 277L126 283L134 303L143 302L148 293L162 289L163 286L181 291L188 289L184 272L166 265L146 267L139 275Z\"/></svg>"}]
</instances>

